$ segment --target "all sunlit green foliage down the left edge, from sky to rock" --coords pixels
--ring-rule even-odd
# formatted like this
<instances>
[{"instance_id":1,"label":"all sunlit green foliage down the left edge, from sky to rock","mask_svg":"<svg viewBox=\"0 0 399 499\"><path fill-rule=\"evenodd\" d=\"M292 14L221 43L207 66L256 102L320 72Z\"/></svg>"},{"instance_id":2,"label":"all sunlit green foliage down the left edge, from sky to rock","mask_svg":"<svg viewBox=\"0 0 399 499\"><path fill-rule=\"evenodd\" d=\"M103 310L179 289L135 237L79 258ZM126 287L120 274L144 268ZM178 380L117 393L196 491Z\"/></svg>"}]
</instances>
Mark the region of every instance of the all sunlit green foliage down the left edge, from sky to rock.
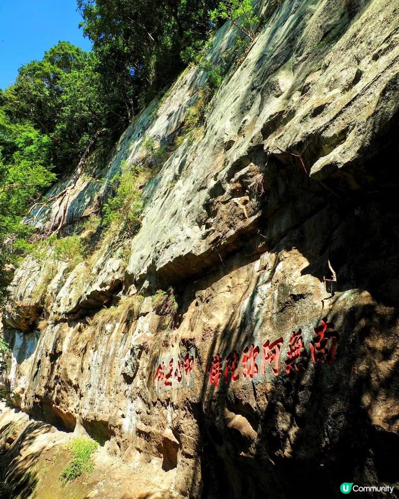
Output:
<instances>
[{"instance_id":1,"label":"all sunlit green foliage down the left edge, from sky to rock","mask_svg":"<svg viewBox=\"0 0 399 499\"><path fill-rule=\"evenodd\" d=\"M97 54L59 42L40 61L22 66L0 90L0 289L32 230L22 224L32 203L76 168L93 136L112 122L100 91Z\"/></svg>"}]
</instances>

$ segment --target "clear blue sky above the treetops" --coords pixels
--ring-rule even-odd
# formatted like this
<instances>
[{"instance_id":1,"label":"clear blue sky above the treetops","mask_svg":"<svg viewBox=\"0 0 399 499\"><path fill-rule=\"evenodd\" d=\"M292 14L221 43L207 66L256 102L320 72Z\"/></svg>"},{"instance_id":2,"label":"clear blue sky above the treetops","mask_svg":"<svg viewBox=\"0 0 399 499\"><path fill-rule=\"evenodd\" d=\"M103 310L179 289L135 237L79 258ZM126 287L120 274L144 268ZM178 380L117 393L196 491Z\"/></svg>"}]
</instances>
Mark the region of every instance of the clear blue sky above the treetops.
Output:
<instances>
[{"instance_id":1,"label":"clear blue sky above the treetops","mask_svg":"<svg viewBox=\"0 0 399 499\"><path fill-rule=\"evenodd\" d=\"M41 59L60 40L85 50L76 0L0 0L0 88L12 83L18 68Z\"/></svg>"}]
</instances>

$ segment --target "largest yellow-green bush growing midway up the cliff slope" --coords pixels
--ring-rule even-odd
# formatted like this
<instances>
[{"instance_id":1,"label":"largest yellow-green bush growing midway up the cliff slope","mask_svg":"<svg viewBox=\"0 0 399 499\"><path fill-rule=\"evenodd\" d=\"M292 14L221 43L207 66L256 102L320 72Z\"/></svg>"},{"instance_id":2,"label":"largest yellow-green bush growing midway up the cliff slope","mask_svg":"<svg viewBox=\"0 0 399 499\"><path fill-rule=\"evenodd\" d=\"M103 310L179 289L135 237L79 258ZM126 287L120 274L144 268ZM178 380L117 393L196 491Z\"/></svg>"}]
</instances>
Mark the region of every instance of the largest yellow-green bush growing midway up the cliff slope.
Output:
<instances>
[{"instance_id":1,"label":"largest yellow-green bush growing midway up the cliff slope","mask_svg":"<svg viewBox=\"0 0 399 499\"><path fill-rule=\"evenodd\" d=\"M135 236L141 226L143 206L141 194L137 190L138 176L141 169L137 166L124 168L122 174L116 175L111 182L115 196L103 207L104 227L116 223L122 226L130 237Z\"/></svg>"}]
</instances>

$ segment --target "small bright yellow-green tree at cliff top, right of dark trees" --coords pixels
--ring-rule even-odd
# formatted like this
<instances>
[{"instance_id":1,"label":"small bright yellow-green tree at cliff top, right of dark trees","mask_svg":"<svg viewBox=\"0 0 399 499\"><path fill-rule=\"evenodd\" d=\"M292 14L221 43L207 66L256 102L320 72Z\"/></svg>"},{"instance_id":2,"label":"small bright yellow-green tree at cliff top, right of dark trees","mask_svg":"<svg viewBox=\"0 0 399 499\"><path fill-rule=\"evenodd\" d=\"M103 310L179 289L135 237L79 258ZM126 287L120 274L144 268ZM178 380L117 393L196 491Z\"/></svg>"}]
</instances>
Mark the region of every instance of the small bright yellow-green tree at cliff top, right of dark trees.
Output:
<instances>
[{"instance_id":1,"label":"small bright yellow-green tree at cliff top, right of dark trees","mask_svg":"<svg viewBox=\"0 0 399 499\"><path fill-rule=\"evenodd\" d=\"M259 21L253 10L252 0L223 0L210 12L212 22L217 19L230 20L235 27L253 40L253 25Z\"/></svg>"}]
</instances>

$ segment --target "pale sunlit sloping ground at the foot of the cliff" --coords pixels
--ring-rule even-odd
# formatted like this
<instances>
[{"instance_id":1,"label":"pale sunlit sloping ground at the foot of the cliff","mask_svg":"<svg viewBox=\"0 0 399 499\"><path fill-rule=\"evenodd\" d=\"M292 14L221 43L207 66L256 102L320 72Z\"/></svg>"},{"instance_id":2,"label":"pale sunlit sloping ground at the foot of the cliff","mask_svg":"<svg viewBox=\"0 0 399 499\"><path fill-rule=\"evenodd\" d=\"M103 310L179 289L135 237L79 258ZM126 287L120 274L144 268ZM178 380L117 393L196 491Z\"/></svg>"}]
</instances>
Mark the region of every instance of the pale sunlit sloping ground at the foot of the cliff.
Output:
<instances>
[{"instance_id":1,"label":"pale sunlit sloping ground at the foot of the cliff","mask_svg":"<svg viewBox=\"0 0 399 499\"><path fill-rule=\"evenodd\" d=\"M160 460L146 463L147 473L140 466L132 467L111 455L109 448L93 454L93 472L74 482L62 484L59 475L72 456L69 444L75 437L54 427L29 418L0 404L0 449L5 484L0 483L0 497L63 498L152 498L180 499L171 490L171 477L149 474ZM82 432L78 432L81 435ZM157 461L157 463L155 463ZM9 491L11 496L9 495ZM132 493L134 491L134 494Z\"/></svg>"}]
</instances>

